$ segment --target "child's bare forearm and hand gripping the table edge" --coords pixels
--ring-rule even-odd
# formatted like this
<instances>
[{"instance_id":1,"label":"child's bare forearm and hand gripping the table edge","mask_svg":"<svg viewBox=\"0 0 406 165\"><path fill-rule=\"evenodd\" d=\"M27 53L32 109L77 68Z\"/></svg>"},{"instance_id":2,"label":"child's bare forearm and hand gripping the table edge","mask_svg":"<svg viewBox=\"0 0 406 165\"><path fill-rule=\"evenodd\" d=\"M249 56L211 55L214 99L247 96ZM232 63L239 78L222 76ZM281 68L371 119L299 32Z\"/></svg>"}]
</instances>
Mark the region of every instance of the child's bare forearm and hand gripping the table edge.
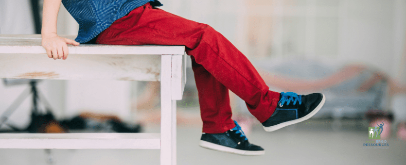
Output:
<instances>
[{"instance_id":1,"label":"child's bare forearm and hand gripping the table edge","mask_svg":"<svg viewBox=\"0 0 406 165\"><path fill-rule=\"evenodd\" d=\"M68 57L66 44L79 45L78 42L60 37L56 34L56 20L61 0L44 0L42 12L42 47L47 51L48 57L56 59Z\"/></svg>"}]
</instances>

